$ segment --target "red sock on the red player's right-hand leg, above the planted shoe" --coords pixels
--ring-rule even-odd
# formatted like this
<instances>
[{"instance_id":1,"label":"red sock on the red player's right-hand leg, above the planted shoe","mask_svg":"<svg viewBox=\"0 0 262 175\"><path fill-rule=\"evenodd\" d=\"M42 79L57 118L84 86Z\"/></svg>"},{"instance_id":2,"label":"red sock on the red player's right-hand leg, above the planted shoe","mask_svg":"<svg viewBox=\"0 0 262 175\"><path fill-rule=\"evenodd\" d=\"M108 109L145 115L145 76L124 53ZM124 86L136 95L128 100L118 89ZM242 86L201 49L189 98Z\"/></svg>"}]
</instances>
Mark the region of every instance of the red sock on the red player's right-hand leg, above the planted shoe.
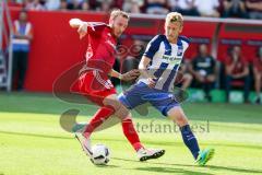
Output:
<instances>
[{"instance_id":1,"label":"red sock on the red player's right-hand leg, above the planted shoe","mask_svg":"<svg viewBox=\"0 0 262 175\"><path fill-rule=\"evenodd\" d=\"M122 120L122 130L135 151L139 151L141 148L144 148L140 142L140 138L136 130L134 129L132 119L129 118Z\"/></svg>"}]
</instances>

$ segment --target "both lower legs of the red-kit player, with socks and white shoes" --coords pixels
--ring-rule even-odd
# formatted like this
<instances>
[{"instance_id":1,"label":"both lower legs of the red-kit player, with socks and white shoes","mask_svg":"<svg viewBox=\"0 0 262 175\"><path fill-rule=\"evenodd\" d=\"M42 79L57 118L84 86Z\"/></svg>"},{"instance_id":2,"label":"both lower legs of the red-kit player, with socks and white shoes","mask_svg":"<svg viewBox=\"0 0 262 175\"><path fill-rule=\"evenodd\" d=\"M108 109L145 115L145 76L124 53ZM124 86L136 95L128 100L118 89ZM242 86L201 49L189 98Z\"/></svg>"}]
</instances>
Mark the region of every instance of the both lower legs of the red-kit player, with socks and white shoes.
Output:
<instances>
[{"instance_id":1,"label":"both lower legs of the red-kit player, with socks and white shoes","mask_svg":"<svg viewBox=\"0 0 262 175\"><path fill-rule=\"evenodd\" d=\"M146 161L150 159L157 159L164 155L165 150L163 149L145 149L140 142L139 135L134 129L132 122L131 113L118 101L117 95L108 95L104 100L104 107L102 107L96 115L92 118L91 122L86 125L83 132L76 132L76 139L80 141L83 151L92 156L92 147L91 147L91 135L92 132L103 124L110 116L120 118L122 122L122 130L133 149L136 151L140 161ZM109 107L110 106L110 107ZM104 117L100 117L99 114L105 114ZM114 116L112 116L114 115ZM98 117L97 117L98 116ZM97 119L98 118L98 119ZM94 124L92 124L92 121Z\"/></svg>"}]
</instances>

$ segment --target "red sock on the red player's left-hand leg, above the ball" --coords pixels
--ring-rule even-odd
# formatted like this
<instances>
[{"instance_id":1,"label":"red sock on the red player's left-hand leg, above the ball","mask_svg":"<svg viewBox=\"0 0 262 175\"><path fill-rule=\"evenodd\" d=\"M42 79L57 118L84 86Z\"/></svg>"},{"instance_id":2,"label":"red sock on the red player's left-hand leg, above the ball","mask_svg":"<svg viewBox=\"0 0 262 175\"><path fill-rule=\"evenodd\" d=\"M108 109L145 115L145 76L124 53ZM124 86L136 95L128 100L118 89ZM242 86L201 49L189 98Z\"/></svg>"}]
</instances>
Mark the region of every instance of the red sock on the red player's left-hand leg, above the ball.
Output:
<instances>
[{"instance_id":1,"label":"red sock on the red player's left-hand leg, above the ball","mask_svg":"<svg viewBox=\"0 0 262 175\"><path fill-rule=\"evenodd\" d=\"M90 124L85 127L85 130L83 132L83 136L85 138L88 138L91 136L91 133L97 128L99 127L104 120L106 120L107 118L109 118L112 114L115 113L115 110L110 107L107 106L103 106L100 107L96 114L93 116L93 118L91 119Z\"/></svg>"}]
</instances>

